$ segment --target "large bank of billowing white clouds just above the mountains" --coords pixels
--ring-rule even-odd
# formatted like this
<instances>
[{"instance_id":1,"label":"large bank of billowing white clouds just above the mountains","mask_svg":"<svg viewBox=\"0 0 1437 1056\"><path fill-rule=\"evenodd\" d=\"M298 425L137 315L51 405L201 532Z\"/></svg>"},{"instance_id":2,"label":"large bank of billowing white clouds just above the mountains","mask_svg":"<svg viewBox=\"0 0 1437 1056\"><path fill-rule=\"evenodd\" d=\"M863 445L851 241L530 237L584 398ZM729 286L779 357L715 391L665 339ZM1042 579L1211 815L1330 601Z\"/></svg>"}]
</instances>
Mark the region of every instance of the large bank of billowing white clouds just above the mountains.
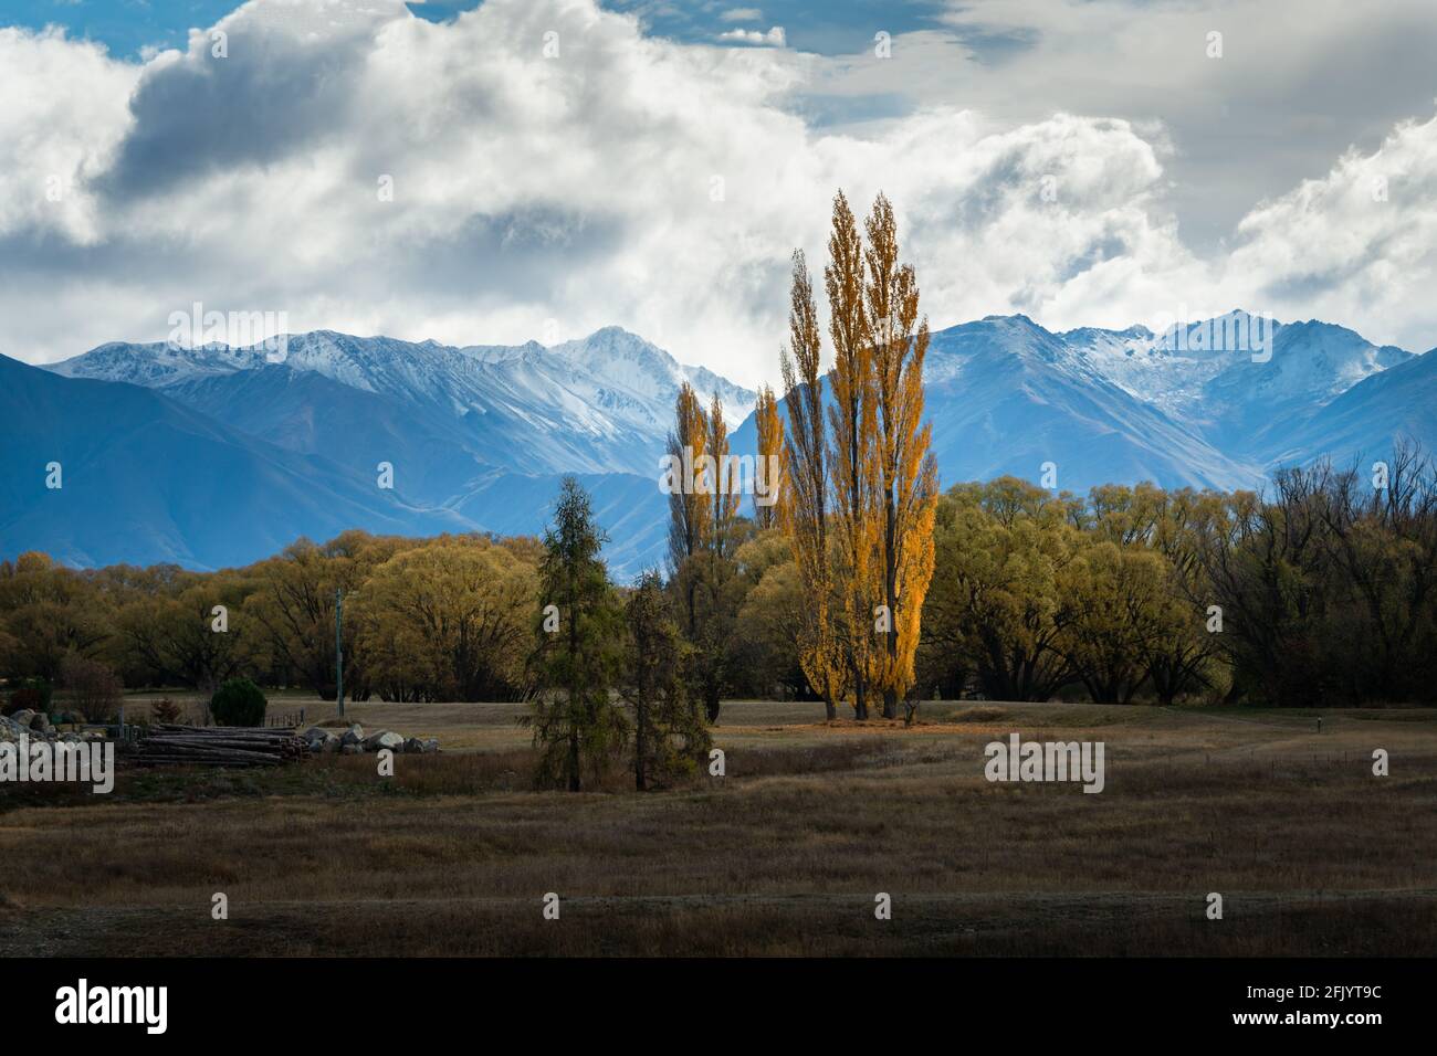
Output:
<instances>
[{"instance_id":1,"label":"large bank of billowing white clouds just above the mountains","mask_svg":"<svg viewBox=\"0 0 1437 1056\"><path fill-rule=\"evenodd\" d=\"M1181 158L1158 121L940 99L810 126L796 95L856 59L644 37L589 0L487 0L444 24L379 0L254 0L221 27L227 59L201 32L144 63L0 30L0 96L23 101L0 111L0 351L161 339L200 300L454 343L616 323L773 379L789 254L822 266L839 187L858 210L888 193L938 326L1315 305L1374 339L1434 343L1437 122L1285 188L1230 253L1201 257L1168 201ZM73 177L62 203L43 194L52 170ZM1364 204L1355 188L1378 172L1388 201Z\"/></svg>"}]
</instances>

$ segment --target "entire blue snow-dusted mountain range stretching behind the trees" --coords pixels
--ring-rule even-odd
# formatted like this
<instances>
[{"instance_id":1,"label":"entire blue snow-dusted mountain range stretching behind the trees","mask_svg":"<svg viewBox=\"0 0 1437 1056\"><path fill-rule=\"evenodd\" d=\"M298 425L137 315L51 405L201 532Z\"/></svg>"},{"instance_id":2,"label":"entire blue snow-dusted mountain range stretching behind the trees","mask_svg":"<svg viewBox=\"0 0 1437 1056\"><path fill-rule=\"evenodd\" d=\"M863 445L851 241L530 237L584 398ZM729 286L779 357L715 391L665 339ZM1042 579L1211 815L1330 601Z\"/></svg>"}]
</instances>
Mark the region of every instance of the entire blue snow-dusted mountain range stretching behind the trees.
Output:
<instances>
[{"instance_id":1,"label":"entire blue snow-dusted mountain range stretching behind the trees","mask_svg":"<svg viewBox=\"0 0 1437 1056\"><path fill-rule=\"evenodd\" d=\"M1194 326L1234 322L1249 319ZM752 391L618 328L466 348L316 330L274 358L167 343L45 368L0 356L0 555L213 569L349 527L537 533L573 473L611 566L632 576L662 560L678 386L717 392L733 451L754 445ZM1038 480L1053 463L1073 491L1260 487L1280 466L1382 457L1397 437L1437 450L1437 356L1318 320L1275 325L1257 361L1171 330L989 316L935 332L924 376L944 484Z\"/></svg>"}]
</instances>

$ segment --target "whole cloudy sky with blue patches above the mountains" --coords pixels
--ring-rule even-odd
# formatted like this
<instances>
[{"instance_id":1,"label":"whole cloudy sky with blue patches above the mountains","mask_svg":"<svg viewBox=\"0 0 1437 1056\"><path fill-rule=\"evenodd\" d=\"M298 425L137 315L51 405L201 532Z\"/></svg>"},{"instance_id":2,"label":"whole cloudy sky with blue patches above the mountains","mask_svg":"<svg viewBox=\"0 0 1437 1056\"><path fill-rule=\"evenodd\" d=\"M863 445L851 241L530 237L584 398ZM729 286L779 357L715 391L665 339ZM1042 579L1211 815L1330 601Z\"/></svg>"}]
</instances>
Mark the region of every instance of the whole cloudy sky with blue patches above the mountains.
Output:
<instances>
[{"instance_id":1,"label":"whole cloudy sky with blue patches above the mountains","mask_svg":"<svg viewBox=\"0 0 1437 1056\"><path fill-rule=\"evenodd\" d=\"M1431 0L0 0L0 353L200 303L776 381L839 188L934 328L1426 351L1434 53Z\"/></svg>"}]
</instances>

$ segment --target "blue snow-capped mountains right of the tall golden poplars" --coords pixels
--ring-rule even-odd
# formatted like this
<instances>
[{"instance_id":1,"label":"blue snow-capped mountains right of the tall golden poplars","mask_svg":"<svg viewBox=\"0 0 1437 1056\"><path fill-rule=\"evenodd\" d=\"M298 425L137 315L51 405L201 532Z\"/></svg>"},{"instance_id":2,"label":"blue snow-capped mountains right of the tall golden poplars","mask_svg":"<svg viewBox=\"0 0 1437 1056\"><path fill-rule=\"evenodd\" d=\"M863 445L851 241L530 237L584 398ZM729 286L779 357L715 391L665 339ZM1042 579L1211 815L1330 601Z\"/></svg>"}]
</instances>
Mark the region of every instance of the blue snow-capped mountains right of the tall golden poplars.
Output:
<instances>
[{"instance_id":1,"label":"blue snow-capped mountains right of the tall golden poplars","mask_svg":"<svg viewBox=\"0 0 1437 1056\"><path fill-rule=\"evenodd\" d=\"M1321 457L1377 458L1397 437L1437 453L1437 359L1318 320L1275 323L1270 348L1266 320L1253 328L1230 312L1181 336L1053 333L1022 315L937 330L924 378L938 476L1036 481L1053 463L1072 491L1140 480L1226 490ZM753 443L750 421L734 445Z\"/></svg>"}]
</instances>

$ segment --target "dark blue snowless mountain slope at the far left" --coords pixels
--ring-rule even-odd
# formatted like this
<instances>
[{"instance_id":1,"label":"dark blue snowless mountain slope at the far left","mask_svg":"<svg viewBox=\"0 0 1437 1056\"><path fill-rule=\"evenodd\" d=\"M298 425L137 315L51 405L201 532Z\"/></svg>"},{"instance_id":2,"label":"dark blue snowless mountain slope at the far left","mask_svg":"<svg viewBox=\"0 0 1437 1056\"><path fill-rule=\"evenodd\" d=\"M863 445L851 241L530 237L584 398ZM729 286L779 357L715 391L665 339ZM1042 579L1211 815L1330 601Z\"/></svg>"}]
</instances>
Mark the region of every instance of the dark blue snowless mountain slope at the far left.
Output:
<instances>
[{"instance_id":1,"label":"dark blue snowless mountain slope at the far left","mask_svg":"<svg viewBox=\"0 0 1437 1056\"><path fill-rule=\"evenodd\" d=\"M267 444L149 389L0 356L0 552L76 565L241 565L362 526L467 530L328 460ZM46 487L60 463L63 487Z\"/></svg>"}]
</instances>

